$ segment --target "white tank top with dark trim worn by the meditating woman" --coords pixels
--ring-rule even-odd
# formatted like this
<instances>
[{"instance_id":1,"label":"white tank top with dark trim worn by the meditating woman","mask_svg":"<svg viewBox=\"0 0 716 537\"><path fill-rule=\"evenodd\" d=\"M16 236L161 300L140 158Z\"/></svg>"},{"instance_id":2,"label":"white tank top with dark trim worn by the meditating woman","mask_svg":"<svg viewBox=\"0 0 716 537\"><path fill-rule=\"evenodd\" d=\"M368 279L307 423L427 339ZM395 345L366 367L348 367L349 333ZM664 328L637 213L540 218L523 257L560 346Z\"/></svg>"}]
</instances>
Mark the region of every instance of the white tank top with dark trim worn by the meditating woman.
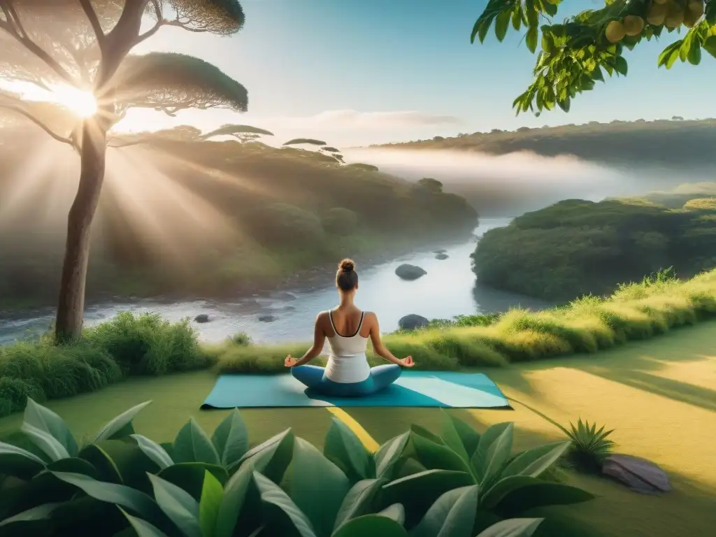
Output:
<instances>
[{"instance_id":1,"label":"white tank top with dark trim worn by the meditating woman","mask_svg":"<svg viewBox=\"0 0 716 537\"><path fill-rule=\"evenodd\" d=\"M365 312L360 316L360 323L356 333L350 337L340 335L333 324L333 315L328 312L331 319L331 327L334 337L328 339L331 354L326 364L326 378L333 382L362 382L370 376L370 366L365 356L365 349L368 346L368 338L360 335L363 326Z\"/></svg>"}]
</instances>

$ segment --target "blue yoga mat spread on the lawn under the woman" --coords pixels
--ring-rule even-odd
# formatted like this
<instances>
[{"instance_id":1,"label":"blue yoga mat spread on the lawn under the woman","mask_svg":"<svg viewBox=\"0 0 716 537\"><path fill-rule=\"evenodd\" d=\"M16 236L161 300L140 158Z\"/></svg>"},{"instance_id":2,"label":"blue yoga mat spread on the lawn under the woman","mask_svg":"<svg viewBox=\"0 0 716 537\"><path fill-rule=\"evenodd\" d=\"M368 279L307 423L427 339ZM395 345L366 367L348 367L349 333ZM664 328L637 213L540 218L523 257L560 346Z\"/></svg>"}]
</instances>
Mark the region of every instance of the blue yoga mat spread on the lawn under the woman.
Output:
<instances>
[{"instance_id":1,"label":"blue yoga mat spread on the lawn under the woman","mask_svg":"<svg viewBox=\"0 0 716 537\"><path fill-rule=\"evenodd\" d=\"M455 371L404 371L367 397L327 397L307 389L291 374L225 374L201 405L209 408L442 407L510 408L486 375Z\"/></svg>"}]
</instances>

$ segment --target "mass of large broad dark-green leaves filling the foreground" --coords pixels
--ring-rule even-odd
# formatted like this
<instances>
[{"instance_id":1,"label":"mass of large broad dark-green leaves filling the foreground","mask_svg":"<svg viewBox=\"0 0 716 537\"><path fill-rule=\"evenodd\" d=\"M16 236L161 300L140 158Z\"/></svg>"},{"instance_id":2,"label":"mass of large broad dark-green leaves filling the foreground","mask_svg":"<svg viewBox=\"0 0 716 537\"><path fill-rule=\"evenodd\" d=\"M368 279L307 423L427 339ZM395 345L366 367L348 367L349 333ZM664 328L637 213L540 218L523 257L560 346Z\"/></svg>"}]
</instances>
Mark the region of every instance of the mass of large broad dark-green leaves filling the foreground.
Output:
<instances>
[{"instance_id":1,"label":"mass of large broad dark-green leaves filling the foreground","mask_svg":"<svg viewBox=\"0 0 716 537\"><path fill-rule=\"evenodd\" d=\"M445 413L369 453L335 420L324 452L291 430L250 448L234 410L209 437L190 420L170 443L115 417L87 442L28 400L24 445L0 443L3 535L231 537L530 536L541 519L511 518L590 500L541 476L570 442L513 455L513 424L482 435Z\"/></svg>"}]
</instances>

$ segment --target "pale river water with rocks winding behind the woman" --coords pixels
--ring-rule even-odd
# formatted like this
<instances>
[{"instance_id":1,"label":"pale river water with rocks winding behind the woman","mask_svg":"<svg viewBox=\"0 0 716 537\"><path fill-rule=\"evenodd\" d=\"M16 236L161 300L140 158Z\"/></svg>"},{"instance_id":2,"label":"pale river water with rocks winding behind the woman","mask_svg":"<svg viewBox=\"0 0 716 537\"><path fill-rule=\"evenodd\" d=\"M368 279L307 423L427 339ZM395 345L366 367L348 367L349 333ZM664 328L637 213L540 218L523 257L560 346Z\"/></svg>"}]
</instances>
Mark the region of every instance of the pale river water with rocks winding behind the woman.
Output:
<instances>
[{"instance_id":1,"label":"pale river water with rocks winding behind the woman","mask_svg":"<svg viewBox=\"0 0 716 537\"><path fill-rule=\"evenodd\" d=\"M505 226L510 220L489 218L480 221L473 238L443 246L449 257L442 261L435 259L432 250L422 250L366 269L358 266L357 305L378 314L381 332L397 329L398 321L407 314L418 314L428 319L450 319L460 314L505 311L511 306L533 309L548 306L538 299L475 285L470 254L475 251L476 241L488 229ZM427 274L415 281L402 281L395 275L395 269L401 263L421 266ZM309 341L316 314L332 308L337 300L333 282L326 281L325 286L314 289L286 289L273 295L236 301L163 304L139 300L93 304L87 308L85 324L92 326L110 319L119 311L151 311L171 321L207 314L210 322L193 323L203 341L220 342L236 332L246 332L256 342ZM274 316L275 320L261 321L260 316ZM24 319L0 321L0 344L32 337L46 330L52 319L53 314L48 311Z\"/></svg>"}]
</instances>

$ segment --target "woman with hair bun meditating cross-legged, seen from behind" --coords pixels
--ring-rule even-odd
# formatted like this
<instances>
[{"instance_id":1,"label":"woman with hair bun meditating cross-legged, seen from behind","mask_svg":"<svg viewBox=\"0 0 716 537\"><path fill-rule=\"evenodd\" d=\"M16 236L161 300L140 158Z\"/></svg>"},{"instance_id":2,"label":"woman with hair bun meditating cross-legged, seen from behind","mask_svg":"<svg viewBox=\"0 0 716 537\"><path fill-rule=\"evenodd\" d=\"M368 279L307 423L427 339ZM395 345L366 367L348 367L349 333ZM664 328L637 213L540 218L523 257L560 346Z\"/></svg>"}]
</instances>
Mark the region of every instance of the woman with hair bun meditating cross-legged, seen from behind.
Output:
<instances>
[{"instance_id":1,"label":"woman with hair bun meditating cross-legged, seen from behind","mask_svg":"<svg viewBox=\"0 0 716 537\"><path fill-rule=\"evenodd\" d=\"M412 367L415 362L410 356L401 360L390 354L380 340L377 316L361 311L353 303L358 289L358 274L350 259L344 259L339 264L336 287L341 303L316 317L313 346L299 360L289 354L284 364L291 368L291 374L296 379L324 395L370 395L390 386L400 377L402 367ZM331 349L326 367L306 365L321 354L326 338ZM365 356L368 338L375 354L390 364L373 368L368 365Z\"/></svg>"}]
</instances>

